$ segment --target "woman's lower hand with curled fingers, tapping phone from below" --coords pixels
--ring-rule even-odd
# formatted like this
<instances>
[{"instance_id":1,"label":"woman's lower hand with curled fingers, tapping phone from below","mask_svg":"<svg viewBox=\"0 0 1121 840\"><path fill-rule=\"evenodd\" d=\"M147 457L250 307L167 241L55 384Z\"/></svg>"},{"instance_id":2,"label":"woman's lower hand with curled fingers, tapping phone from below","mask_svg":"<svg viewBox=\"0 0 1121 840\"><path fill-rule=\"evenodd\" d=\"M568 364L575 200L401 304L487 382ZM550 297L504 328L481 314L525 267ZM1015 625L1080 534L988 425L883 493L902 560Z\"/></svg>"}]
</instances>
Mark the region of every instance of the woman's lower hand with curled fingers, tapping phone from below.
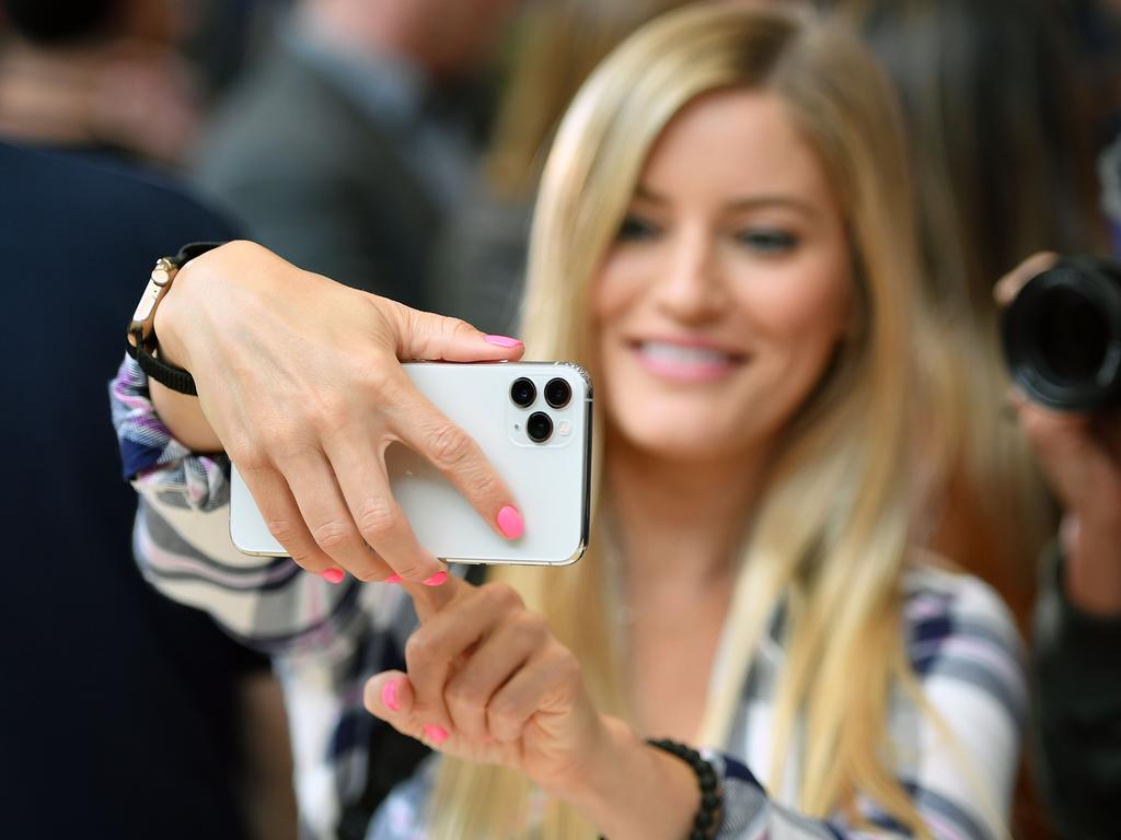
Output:
<instances>
[{"instance_id":1,"label":"woman's lower hand with curled fingers, tapping phone from below","mask_svg":"<svg viewBox=\"0 0 1121 840\"><path fill-rule=\"evenodd\" d=\"M420 627L407 673L365 685L365 706L442 753L525 773L550 793L589 776L609 740L576 657L504 584L407 585Z\"/></svg>"}]
</instances>

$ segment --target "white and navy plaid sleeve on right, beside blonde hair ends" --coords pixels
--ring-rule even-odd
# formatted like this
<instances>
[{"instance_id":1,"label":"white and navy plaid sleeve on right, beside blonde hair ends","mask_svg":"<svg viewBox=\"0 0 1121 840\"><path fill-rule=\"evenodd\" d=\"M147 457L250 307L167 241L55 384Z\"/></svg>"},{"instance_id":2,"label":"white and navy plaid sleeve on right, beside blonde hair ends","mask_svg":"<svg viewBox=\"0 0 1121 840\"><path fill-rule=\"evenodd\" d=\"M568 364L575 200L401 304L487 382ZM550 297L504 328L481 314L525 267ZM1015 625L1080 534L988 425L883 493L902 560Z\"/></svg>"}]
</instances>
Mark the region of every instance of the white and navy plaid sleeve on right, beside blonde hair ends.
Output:
<instances>
[{"instance_id":1,"label":"white and navy plaid sleeve on right, beside blonde hair ends","mask_svg":"<svg viewBox=\"0 0 1121 840\"><path fill-rule=\"evenodd\" d=\"M923 704L892 698L895 772L932 837L994 840L1008 833L1027 685L1019 635L998 596L974 578L929 572L910 594L905 619ZM910 832L868 796L861 820L813 820L772 800L736 758L706 756L725 805L720 840L902 838Z\"/></svg>"}]
</instances>

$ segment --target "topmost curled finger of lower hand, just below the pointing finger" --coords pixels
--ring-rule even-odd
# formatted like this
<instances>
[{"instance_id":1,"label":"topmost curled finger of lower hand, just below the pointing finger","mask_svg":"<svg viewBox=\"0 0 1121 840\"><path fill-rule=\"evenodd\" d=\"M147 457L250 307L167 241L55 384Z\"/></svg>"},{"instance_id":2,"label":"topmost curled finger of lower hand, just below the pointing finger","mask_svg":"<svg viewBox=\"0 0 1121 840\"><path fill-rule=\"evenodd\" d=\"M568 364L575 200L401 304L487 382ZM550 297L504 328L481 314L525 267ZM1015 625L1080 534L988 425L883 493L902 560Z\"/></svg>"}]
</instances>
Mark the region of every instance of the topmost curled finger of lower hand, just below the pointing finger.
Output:
<instances>
[{"instance_id":1,"label":"topmost curled finger of lower hand, just below the pointing finger","mask_svg":"<svg viewBox=\"0 0 1121 840\"><path fill-rule=\"evenodd\" d=\"M507 586L464 589L453 604L433 614L405 643L405 662L418 713L451 721L444 690L461 657L501 624L521 599Z\"/></svg>"}]
</instances>

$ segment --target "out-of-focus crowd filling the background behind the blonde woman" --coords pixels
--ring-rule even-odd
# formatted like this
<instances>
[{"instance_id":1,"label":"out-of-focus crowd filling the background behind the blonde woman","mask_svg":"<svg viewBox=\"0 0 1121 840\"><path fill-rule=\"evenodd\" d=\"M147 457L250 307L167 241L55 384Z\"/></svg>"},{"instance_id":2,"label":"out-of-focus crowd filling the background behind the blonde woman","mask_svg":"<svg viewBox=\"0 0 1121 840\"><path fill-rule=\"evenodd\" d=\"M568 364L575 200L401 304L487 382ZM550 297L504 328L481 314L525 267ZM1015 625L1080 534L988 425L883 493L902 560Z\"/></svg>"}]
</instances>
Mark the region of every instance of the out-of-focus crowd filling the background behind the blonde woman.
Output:
<instances>
[{"instance_id":1,"label":"out-of-focus crowd filling the background behind the blonde woman","mask_svg":"<svg viewBox=\"0 0 1121 840\"><path fill-rule=\"evenodd\" d=\"M131 559L136 502L104 382L154 259L248 239L354 288L517 335L562 116L617 45L683 4L0 0L13 542L0 834L297 836L291 777L306 768L268 660L155 594ZM916 516L918 541L992 585L1029 646L1056 610L1073 610L1081 638L1109 650L1121 600L1071 600L1059 572L1037 563L1062 513L1009 421L992 290L1037 251L1121 253L1121 3L773 4L845 20L902 106L921 299L945 337L930 379L969 371L946 385L957 402L939 439L954 448L928 477L944 492ZM1078 671L1037 638L1035 700L1051 728L1034 730L1012 836L1115 836L1112 651L1082 648Z\"/></svg>"}]
</instances>

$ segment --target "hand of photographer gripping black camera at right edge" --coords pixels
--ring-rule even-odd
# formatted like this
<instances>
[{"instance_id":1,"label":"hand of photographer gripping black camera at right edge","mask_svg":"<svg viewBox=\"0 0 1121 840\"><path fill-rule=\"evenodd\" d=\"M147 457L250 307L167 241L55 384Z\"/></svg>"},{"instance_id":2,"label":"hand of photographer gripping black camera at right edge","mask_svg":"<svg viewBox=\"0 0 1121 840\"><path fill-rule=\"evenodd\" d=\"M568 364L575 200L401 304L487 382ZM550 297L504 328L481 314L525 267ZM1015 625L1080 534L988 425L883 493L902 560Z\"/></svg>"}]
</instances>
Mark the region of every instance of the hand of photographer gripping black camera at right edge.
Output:
<instances>
[{"instance_id":1,"label":"hand of photographer gripping black camera at right edge","mask_svg":"<svg viewBox=\"0 0 1121 840\"><path fill-rule=\"evenodd\" d=\"M1035 254L995 288L1007 305L1055 263ZM1050 411L1012 393L1019 422L1065 511L1062 543L1066 597L1085 613L1121 615L1121 416Z\"/></svg>"}]
</instances>

